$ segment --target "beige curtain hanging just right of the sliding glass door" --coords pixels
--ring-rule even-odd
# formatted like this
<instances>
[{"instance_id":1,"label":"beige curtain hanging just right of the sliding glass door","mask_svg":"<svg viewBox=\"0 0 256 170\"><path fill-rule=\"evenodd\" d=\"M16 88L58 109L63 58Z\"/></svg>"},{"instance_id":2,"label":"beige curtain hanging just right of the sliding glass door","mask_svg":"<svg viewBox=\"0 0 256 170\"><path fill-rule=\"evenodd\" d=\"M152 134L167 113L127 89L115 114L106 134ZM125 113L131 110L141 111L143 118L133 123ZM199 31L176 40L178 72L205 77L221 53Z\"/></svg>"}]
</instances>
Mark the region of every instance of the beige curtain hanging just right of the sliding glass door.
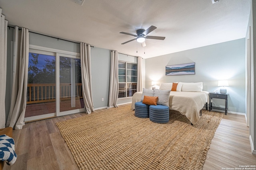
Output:
<instances>
[{"instance_id":1,"label":"beige curtain hanging just right of the sliding glass door","mask_svg":"<svg viewBox=\"0 0 256 170\"><path fill-rule=\"evenodd\" d=\"M94 111L92 101L92 80L91 80L91 46L80 43L82 90L84 96L84 106L87 113Z\"/></svg>"}]
</instances>

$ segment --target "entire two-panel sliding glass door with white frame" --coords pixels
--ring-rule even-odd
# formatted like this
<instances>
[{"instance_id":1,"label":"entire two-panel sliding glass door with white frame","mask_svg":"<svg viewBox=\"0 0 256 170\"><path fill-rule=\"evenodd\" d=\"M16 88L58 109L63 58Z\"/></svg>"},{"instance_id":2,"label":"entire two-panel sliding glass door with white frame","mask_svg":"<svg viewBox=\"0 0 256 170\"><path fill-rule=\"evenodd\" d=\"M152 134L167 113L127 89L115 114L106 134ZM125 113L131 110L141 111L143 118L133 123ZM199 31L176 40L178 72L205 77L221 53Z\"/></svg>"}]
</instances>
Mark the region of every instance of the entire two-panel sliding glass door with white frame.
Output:
<instances>
[{"instance_id":1,"label":"entire two-panel sliding glass door with white frame","mask_svg":"<svg viewBox=\"0 0 256 170\"><path fill-rule=\"evenodd\" d=\"M30 49L25 121L82 111L80 57Z\"/></svg>"}]
</instances>

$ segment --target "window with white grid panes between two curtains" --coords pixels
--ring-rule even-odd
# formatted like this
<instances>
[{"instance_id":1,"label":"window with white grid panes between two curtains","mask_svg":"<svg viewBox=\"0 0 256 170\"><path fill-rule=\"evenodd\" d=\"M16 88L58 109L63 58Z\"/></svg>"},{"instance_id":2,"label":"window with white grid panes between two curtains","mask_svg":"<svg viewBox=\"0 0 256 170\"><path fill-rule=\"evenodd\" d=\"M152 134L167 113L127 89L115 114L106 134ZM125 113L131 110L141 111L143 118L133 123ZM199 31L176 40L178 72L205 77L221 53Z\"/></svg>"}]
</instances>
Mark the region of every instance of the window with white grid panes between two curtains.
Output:
<instances>
[{"instance_id":1,"label":"window with white grid panes between two curtains","mask_svg":"<svg viewBox=\"0 0 256 170\"><path fill-rule=\"evenodd\" d=\"M137 64L118 61L118 98L132 97L137 92Z\"/></svg>"}]
</instances>

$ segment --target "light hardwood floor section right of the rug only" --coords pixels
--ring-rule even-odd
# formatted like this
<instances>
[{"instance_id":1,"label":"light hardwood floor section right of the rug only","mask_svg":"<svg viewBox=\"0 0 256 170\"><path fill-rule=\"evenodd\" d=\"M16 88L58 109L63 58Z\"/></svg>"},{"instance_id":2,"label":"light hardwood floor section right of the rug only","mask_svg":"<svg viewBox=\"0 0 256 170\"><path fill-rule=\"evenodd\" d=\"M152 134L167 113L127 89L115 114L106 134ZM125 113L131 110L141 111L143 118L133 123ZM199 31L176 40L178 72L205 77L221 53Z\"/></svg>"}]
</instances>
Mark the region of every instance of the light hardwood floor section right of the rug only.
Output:
<instances>
[{"instance_id":1,"label":"light hardwood floor section right of the rug only","mask_svg":"<svg viewBox=\"0 0 256 170\"><path fill-rule=\"evenodd\" d=\"M203 169L241 168L240 165L256 168L256 155L251 153L245 117L228 113L214 134Z\"/></svg>"}]
</instances>

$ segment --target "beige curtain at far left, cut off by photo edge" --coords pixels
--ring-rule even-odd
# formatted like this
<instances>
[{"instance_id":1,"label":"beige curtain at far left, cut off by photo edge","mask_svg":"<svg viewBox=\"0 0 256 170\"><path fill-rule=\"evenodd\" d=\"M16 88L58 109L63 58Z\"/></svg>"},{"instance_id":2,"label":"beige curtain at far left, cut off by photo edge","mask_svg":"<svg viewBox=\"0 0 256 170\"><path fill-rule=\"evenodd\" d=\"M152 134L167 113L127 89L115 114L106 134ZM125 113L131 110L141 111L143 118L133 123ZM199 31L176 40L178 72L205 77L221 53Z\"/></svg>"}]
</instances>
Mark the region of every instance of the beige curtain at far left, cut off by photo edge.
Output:
<instances>
[{"instance_id":1,"label":"beige curtain at far left, cut off by photo edge","mask_svg":"<svg viewBox=\"0 0 256 170\"><path fill-rule=\"evenodd\" d=\"M5 127L5 92L6 92L6 60L7 60L7 24L0 8L0 129Z\"/></svg>"}]
</instances>

